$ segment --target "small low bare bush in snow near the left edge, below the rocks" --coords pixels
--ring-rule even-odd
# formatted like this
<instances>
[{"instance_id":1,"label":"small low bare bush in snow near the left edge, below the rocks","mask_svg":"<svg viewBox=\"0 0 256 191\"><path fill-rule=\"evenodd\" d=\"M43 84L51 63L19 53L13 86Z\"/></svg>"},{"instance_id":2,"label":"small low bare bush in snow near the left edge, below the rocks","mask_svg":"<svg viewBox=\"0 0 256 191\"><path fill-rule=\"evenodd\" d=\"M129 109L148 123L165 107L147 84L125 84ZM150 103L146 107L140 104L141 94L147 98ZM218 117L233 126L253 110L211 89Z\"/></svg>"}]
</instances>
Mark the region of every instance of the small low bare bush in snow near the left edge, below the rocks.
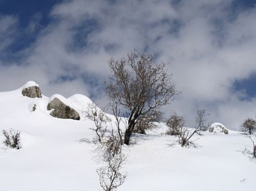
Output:
<instances>
[{"instance_id":1,"label":"small low bare bush in snow near the left edge, below the rocks","mask_svg":"<svg viewBox=\"0 0 256 191\"><path fill-rule=\"evenodd\" d=\"M21 132L10 129L9 132L3 130L2 134L5 137L3 143L11 148L20 149L21 148Z\"/></svg>"}]
</instances>

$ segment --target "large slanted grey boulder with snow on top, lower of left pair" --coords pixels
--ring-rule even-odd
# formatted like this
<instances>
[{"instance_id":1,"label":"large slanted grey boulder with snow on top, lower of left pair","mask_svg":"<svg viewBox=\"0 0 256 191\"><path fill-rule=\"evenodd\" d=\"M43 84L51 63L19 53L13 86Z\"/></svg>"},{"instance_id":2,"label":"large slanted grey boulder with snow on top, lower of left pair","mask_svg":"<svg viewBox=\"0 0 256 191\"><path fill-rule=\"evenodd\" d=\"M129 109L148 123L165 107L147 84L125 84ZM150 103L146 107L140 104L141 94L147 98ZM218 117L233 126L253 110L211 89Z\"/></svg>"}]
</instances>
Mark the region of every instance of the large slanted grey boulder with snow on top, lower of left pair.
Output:
<instances>
[{"instance_id":1,"label":"large slanted grey boulder with snow on top, lower of left pair","mask_svg":"<svg viewBox=\"0 0 256 191\"><path fill-rule=\"evenodd\" d=\"M52 117L61 118L61 119L72 119L80 120L80 116L74 108L71 107L71 104L68 103L65 97L55 94L50 98L50 101L47 105L47 110L54 109L50 115Z\"/></svg>"}]
</instances>

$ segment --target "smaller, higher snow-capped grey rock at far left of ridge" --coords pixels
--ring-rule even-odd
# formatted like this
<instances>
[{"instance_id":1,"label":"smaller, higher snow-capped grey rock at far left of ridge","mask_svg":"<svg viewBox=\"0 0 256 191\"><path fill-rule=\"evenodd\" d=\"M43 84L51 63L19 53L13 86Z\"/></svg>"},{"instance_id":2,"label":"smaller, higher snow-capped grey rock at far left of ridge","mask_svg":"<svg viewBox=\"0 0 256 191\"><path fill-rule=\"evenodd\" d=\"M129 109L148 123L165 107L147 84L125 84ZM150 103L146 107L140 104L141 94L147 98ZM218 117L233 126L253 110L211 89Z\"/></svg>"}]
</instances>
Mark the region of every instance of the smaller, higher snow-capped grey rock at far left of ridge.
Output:
<instances>
[{"instance_id":1,"label":"smaller, higher snow-capped grey rock at far left of ridge","mask_svg":"<svg viewBox=\"0 0 256 191\"><path fill-rule=\"evenodd\" d=\"M35 97L41 98L42 97L41 90L40 90L38 84L35 83L35 81L28 81L24 85L21 93L23 96L30 97L30 98L35 98Z\"/></svg>"}]
</instances>

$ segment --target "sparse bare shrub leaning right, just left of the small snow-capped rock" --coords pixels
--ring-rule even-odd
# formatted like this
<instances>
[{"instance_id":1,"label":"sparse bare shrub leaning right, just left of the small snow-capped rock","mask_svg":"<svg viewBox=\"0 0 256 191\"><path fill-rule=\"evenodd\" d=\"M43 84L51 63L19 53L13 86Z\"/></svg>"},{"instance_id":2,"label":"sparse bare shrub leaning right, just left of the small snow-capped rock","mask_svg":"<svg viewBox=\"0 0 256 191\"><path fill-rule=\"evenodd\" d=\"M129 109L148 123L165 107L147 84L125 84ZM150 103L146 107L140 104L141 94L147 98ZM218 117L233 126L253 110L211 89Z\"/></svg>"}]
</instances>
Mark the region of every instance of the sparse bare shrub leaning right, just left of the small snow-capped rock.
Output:
<instances>
[{"instance_id":1,"label":"sparse bare shrub leaning right, just left of the small snow-capped rock","mask_svg":"<svg viewBox=\"0 0 256 191\"><path fill-rule=\"evenodd\" d=\"M192 129L191 131L188 130L188 128L181 127L180 133L178 134L179 137L179 144L181 146L188 146L192 142L194 142L197 139L194 139L191 141L191 138L195 135L201 135L201 131L204 129L208 129L209 124L205 124L205 115L208 115L206 110L198 110L197 111L197 117L195 118L195 122L197 123L197 126Z\"/></svg>"}]
</instances>

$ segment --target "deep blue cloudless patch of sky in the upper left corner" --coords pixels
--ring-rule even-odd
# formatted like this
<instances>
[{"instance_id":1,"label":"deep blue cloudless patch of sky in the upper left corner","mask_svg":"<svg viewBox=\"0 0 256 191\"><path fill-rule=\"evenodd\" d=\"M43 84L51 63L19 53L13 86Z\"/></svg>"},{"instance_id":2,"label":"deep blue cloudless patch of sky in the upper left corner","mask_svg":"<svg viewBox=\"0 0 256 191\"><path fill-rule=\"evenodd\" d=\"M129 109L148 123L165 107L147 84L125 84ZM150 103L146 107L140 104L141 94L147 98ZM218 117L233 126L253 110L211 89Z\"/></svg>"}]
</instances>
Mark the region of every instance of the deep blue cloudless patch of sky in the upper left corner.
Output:
<instances>
[{"instance_id":1,"label":"deep blue cloudless patch of sky in the upper left corner","mask_svg":"<svg viewBox=\"0 0 256 191\"><path fill-rule=\"evenodd\" d=\"M19 29L19 35L16 36L15 43L8 47L8 49L12 53L16 53L31 45L36 40L36 35L51 22L49 13L52 7L59 2L61 1L0 1L1 15L13 15L18 19L17 28ZM32 22L36 23L35 29L33 32L28 32L27 28Z\"/></svg>"}]
</instances>

